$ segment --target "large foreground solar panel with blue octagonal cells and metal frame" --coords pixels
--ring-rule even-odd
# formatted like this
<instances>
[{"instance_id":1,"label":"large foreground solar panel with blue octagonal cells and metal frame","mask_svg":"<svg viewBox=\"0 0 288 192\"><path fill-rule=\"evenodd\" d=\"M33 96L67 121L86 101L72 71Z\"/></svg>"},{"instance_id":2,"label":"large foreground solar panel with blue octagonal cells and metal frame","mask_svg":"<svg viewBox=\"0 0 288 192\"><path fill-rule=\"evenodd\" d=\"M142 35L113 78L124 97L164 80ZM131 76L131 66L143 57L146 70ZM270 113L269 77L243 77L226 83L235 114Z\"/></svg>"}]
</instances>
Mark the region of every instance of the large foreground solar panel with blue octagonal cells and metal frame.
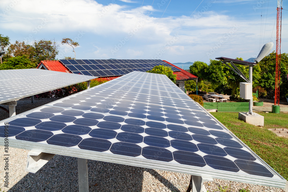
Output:
<instances>
[{"instance_id":1,"label":"large foreground solar panel with blue octagonal cells and metal frame","mask_svg":"<svg viewBox=\"0 0 288 192\"><path fill-rule=\"evenodd\" d=\"M286 184L165 75L134 71L5 119L0 145L4 122L10 147L278 188Z\"/></svg>"}]
</instances>

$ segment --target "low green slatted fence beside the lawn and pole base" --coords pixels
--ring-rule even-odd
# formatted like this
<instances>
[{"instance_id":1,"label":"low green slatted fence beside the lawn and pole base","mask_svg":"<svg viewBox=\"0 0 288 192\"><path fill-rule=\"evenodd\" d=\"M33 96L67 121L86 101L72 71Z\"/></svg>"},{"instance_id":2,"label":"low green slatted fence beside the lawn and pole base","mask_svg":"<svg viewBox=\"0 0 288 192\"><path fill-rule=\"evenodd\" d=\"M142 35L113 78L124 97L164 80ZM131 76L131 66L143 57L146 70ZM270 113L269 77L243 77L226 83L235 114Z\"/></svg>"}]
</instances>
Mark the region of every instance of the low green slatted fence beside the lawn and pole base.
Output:
<instances>
[{"instance_id":1,"label":"low green slatted fence beside the lawn and pole base","mask_svg":"<svg viewBox=\"0 0 288 192\"><path fill-rule=\"evenodd\" d=\"M204 108L218 112L248 112L249 102L204 102Z\"/></svg>"}]
</instances>

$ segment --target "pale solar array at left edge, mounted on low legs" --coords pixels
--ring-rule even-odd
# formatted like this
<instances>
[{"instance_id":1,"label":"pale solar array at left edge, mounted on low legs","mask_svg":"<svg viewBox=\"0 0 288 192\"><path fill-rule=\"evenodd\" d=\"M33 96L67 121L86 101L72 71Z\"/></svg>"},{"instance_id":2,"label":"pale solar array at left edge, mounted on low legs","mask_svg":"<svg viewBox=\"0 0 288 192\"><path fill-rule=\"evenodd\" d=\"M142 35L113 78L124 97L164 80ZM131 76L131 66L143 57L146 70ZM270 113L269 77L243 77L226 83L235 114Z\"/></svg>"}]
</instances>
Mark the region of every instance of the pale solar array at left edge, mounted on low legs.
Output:
<instances>
[{"instance_id":1,"label":"pale solar array at left edge, mounted on low legs","mask_svg":"<svg viewBox=\"0 0 288 192\"><path fill-rule=\"evenodd\" d=\"M0 70L0 104L94 79L42 69Z\"/></svg>"}]
</instances>

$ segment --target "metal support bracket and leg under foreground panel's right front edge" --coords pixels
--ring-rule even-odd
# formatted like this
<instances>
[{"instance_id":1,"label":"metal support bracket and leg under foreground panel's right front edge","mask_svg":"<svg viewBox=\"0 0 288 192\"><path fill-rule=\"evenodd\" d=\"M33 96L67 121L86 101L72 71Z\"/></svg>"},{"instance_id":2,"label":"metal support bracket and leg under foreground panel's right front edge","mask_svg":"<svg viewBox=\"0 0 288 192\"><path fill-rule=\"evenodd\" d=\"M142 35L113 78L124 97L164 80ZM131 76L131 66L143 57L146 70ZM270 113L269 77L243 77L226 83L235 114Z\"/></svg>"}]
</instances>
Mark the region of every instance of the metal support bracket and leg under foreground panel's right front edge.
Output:
<instances>
[{"instance_id":1,"label":"metal support bracket and leg under foreground panel's right front edge","mask_svg":"<svg viewBox=\"0 0 288 192\"><path fill-rule=\"evenodd\" d=\"M191 175L190 183L186 192L207 192L204 182L213 181L212 178Z\"/></svg>"}]
</instances>

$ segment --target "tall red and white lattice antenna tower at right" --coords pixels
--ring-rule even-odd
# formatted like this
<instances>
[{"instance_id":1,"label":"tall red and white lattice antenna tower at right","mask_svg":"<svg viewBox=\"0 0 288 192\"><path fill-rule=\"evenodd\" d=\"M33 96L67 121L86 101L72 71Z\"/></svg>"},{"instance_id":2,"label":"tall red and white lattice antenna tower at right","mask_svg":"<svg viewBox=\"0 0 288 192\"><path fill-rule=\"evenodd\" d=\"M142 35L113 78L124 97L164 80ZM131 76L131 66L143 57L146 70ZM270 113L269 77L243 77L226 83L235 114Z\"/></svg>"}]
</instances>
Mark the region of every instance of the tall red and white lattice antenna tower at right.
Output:
<instances>
[{"instance_id":1,"label":"tall red and white lattice antenna tower at right","mask_svg":"<svg viewBox=\"0 0 288 192\"><path fill-rule=\"evenodd\" d=\"M281 61L281 18L282 0L278 0L277 5L277 28L276 28L276 77L275 77L275 101L274 105L279 105L279 85L280 85L280 61Z\"/></svg>"}]
</instances>

